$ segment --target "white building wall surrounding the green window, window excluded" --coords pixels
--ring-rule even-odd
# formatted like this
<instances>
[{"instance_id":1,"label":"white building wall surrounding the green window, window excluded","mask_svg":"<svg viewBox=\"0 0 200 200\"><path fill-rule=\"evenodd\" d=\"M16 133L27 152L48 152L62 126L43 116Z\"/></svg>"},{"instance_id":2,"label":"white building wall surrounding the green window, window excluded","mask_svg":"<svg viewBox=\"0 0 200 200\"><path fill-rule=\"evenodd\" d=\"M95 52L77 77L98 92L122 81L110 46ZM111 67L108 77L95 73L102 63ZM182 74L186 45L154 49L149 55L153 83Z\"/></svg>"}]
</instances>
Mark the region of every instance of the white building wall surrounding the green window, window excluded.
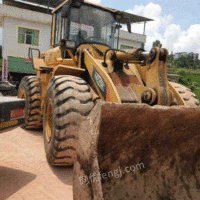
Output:
<instances>
[{"instance_id":1,"label":"white building wall surrounding the green window, window excluded","mask_svg":"<svg viewBox=\"0 0 200 200\"><path fill-rule=\"evenodd\" d=\"M0 18L3 21L3 56L28 58L29 47L41 52L50 49L51 15L0 5ZM39 30L39 46L18 44L19 26Z\"/></svg>"}]
</instances>

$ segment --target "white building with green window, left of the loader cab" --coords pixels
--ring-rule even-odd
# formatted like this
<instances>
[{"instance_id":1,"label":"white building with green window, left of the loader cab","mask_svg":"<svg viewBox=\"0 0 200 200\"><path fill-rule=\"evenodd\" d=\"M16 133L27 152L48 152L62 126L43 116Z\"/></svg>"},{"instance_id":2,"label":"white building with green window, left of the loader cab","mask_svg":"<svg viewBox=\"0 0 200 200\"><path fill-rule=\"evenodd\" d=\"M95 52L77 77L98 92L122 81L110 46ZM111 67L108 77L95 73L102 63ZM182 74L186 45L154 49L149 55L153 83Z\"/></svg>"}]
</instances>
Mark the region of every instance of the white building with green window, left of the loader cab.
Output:
<instances>
[{"instance_id":1,"label":"white building with green window, left of the loader cab","mask_svg":"<svg viewBox=\"0 0 200 200\"><path fill-rule=\"evenodd\" d=\"M3 27L3 57L28 57L28 48L44 52L50 48L51 15L3 4L0 24Z\"/></svg>"}]
</instances>

